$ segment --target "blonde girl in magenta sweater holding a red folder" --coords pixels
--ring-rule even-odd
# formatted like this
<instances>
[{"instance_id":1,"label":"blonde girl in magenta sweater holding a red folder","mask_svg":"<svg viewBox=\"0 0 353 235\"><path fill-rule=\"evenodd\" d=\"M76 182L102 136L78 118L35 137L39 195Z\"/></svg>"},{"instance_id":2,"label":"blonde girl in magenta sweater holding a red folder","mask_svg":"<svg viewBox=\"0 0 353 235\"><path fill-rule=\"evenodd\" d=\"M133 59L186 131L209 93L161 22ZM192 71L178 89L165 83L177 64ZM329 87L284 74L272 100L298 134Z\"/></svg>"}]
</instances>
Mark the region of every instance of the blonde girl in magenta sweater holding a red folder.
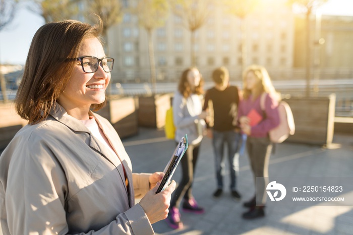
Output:
<instances>
[{"instance_id":1,"label":"blonde girl in magenta sweater holding a red folder","mask_svg":"<svg viewBox=\"0 0 353 235\"><path fill-rule=\"evenodd\" d=\"M244 99L239 105L239 121L243 133L248 135L247 150L256 185L256 195L244 203L250 210L243 214L243 218L253 219L265 215L268 161L273 146L268 132L279 125L279 96L267 70L258 65L249 66L244 71L243 91ZM263 105L261 99L264 100ZM255 119L256 115L251 113L257 113L261 121L255 123L252 119Z\"/></svg>"}]
</instances>

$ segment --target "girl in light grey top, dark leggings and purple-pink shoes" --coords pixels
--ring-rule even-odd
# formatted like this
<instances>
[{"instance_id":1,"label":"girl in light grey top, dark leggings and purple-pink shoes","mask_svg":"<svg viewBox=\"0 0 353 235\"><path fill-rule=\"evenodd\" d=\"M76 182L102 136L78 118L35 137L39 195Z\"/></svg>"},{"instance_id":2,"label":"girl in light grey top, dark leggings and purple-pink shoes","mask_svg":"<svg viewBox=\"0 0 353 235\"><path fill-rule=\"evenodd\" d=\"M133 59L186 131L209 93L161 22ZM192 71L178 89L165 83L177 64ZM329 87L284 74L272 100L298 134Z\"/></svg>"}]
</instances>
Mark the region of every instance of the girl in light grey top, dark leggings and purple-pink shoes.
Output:
<instances>
[{"instance_id":1,"label":"girl in light grey top, dark leggings and purple-pink shoes","mask_svg":"<svg viewBox=\"0 0 353 235\"><path fill-rule=\"evenodd\" d=\"M198 206L193 194L195 166L199 156L203 127L205 126L206 112L202 111L203 79L195 67L185 70L180 78L178 91L173 97L173 121L177 128L175 142L188 135L189 147L181 159L182 180L172 195L169 214L166 218L168 225L174 229L182 228L183 222L179 212L181 200L184 198L183 210L193 213L203 213L204 209Z\"/></svg>"}]
</instances>

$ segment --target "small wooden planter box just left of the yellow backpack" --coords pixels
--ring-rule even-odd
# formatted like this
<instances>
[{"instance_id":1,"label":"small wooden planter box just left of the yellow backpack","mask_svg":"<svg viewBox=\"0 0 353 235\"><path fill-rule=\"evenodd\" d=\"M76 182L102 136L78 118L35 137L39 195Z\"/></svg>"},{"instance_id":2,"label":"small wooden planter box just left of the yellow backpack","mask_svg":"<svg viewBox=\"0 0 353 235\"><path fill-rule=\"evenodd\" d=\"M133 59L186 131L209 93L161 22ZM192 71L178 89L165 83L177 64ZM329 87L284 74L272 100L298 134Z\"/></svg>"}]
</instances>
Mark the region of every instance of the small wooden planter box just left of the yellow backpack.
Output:
<instances>
[{"instance_id":1,"label":"small wooden planter box just left of the yellow backpack","mask_svg":"<svg viewBox=\"0 0 353 235\"><path fill-rule=\"evenodd\" d=\"M162 128L165 125L165 113L170 108L170 94L140 96L139 126Z\"/></svg>"}]
</instances>

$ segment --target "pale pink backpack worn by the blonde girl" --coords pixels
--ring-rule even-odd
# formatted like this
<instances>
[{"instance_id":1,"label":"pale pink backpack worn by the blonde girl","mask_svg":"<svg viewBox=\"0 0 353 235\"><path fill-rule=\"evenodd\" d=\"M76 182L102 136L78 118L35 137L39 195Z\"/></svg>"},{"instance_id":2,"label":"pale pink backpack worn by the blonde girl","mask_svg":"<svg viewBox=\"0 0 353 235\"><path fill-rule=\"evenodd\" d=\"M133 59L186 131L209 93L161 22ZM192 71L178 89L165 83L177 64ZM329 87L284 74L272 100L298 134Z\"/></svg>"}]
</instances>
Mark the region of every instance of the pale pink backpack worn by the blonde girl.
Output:
<instances>
[{"instance_id":1,"label":"pale pink backpack worn by the blonde girl","mask_svg":"<svg viewBox=\"0 0 353 235\"><path fill-rule=\"evenodd\" d=\"M265 99L267 93L263 93L260 98L260 106L265 111ZM280 101L277 106L279 114L279 125L269 131L270 140L273 143L282 143L289 135L294 135L296 125L293 119L293 113L287 102Z\"/></svg>"}]
</instances>

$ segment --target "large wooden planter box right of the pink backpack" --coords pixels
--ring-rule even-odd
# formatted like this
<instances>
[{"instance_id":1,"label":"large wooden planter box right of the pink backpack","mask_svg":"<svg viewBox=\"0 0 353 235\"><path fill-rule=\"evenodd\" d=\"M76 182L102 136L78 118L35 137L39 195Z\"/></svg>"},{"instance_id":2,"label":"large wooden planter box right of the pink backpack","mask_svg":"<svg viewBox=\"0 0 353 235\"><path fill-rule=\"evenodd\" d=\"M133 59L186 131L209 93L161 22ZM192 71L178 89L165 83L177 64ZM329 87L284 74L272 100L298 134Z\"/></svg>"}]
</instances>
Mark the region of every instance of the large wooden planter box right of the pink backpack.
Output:
<instances>
[{"instance_id":1,"label":"large wooden planter box right of the pink backpack","mask_svg":"<svg viewBox=\"0 0 353 235\"><path fill-rule=\"evenodd\" d=\"M336 95L290 98L286 101L296 123L296 133L287 141L315 145L332 144Z\"/></svg>"}]
</instances>

